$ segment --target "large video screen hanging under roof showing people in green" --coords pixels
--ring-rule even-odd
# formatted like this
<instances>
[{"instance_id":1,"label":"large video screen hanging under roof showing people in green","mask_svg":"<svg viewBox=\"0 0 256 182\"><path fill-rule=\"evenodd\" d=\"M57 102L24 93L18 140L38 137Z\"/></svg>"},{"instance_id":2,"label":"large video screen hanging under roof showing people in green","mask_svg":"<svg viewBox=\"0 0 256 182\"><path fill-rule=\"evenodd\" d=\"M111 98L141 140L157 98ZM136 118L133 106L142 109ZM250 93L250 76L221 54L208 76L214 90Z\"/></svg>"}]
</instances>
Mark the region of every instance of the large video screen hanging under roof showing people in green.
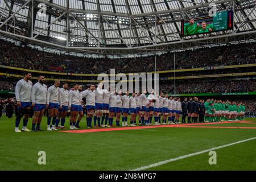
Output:
<instances>
[{"instance_id":1,"label":"large video screen hanging under roof showing people in green","mask_svg":"<svg viewBox=\"0 0 256 182\"><path fill-rule=\"evenodd\" d=\"M181 20L181 36L233 30L233 11L217 11L215 16Z\"/></svg>"}]
</instances>

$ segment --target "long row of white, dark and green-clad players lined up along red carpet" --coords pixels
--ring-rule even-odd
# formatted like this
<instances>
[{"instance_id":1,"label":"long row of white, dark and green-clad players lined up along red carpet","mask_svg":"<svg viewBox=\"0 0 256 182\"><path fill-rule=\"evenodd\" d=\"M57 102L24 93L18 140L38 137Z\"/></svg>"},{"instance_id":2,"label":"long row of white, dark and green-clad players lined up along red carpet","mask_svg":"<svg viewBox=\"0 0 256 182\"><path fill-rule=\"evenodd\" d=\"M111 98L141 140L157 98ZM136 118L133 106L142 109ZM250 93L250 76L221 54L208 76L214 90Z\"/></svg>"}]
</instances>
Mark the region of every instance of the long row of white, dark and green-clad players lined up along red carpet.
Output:
<instances>
[{"instance_id":1,"label":"long row of white, dark and green-clad players lined up along red carpet","mask_svg":"<svg viewBox=\"0 0 256 182\"><path fill-rule=\"evenodd\" d=\"M94 85L82 90L79 84L73 84L68 90L67 82L55 81L54 85L44 84L45 78L38 77L38 82L32 85L31 73L24 73L24 78L16 83L15 95L18 105L18 114L15 120L15 132L30 131L27 129L28 118L31 110L34 110L31 131L42 131L40 123L44 111L48 109L47 130L63 129L65 118L70 111L69 129L80 129L80 121L84 116L86 108L86 124L91 127L113 127L115 118L116 126L138 125L174 125L181 122L219 122L243 120L245 106L240 103L228 100L199 100L197 97L189 97L181 102L180 97L169 96L168 94L155 94L154 90L146 96L146 90L139 93L127 91L124 95L110 89L109 86L103 89L103 84ZM59 88L59 86L62 88ZM82 99L85 98L85 102ZM130 125L128 115L130 114ZM122 117L122 120L121 120ZM22 130L19 130L19 123L23 118ZM94 125L92 126L92 121ZM122 122L122 123L120 123Z\"/></svg>"}]
</instances>

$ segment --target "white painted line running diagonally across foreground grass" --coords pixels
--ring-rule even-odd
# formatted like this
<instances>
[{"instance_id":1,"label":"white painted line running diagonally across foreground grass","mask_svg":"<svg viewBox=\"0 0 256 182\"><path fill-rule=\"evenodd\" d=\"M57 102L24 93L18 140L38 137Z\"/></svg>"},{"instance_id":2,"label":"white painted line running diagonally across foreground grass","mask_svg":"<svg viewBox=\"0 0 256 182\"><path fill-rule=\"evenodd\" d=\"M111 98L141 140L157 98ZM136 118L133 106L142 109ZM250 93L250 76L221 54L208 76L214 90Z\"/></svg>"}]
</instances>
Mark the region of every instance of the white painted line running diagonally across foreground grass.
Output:
<instances>
[{"instance_id":1,"label":"white painted line running diagonally across foreground grass","mask_svg":"<svg viewBox=\"0 0 256 182\"><path fill-rule=\"evenodd\" d=\"M237 141L237 142L234 142L234 143L225 144L224 146L218 146L218 147L209 148L207 150L195 152L195 153L188 154L188 155L179 156L179 157L173 158L173 159L163 160L162 162L150 164L148 166L142 166L142 167L137 168L137 169L131 169L130 171L143 171L145 169L161 166L163 164L170 163L170 162L173 162L173 161L176 161L176 160L189 158L189 157L194 156L194 155L204 154L204 153L212 151L212 150L217 150L217 149L220 149L220 148L224 148L224 147L228 147L228 146L233 146L234 144L243 143L243 142L247 142L247 141L254 140L254 139L256 139L256 137L245 139L245 140L240 140L240 141Z\"/></svg>"}]
</instances>

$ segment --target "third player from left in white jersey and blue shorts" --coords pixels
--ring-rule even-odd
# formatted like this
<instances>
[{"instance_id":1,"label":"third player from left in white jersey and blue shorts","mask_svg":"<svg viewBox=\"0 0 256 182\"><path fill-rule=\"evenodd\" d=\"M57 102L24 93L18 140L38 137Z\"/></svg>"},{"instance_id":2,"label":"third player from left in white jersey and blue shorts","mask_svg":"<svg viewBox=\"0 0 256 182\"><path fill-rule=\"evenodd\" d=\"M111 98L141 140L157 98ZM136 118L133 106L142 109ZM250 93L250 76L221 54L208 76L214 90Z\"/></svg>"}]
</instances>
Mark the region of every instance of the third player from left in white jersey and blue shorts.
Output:
<instances>
[{"instance_id":1,"label":"third player from left in white jersey and blue shorts","mask_svg":"<svg viewBox=\"0 0 256 182\"><path fill-rule=\"evenodd\" d=\"M50 86L47 90L46 103L48 105L49 115L47 118L47 131L57 130L55 128L56 118L59 109L59 86L60 81L55 81L54 85ZM50 127L52 120L52 127Z\"/></svg>"}]
</instances>

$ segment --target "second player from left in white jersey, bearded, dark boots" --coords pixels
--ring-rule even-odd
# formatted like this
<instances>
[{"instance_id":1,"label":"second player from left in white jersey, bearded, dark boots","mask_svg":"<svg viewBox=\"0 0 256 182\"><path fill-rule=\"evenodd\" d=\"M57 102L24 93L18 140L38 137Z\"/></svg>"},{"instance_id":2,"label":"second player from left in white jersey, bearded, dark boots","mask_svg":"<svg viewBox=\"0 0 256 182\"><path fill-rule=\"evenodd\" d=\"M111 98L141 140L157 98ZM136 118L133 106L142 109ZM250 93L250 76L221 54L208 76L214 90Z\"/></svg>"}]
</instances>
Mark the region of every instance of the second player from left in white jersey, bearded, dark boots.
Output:
<instances>
[{"instance_id":1,"label":"second player from left in white jersey, bearded, dark boots","mask_svg":"<svg viewBox=\"0 0 256 182\"><path fill-rule=\"evenodd\" d=\"M44 84L44 81L44 76L39 76L38 82L36 82L36 84L32 87L31 106L34 108L32 131L43 131L40 129L40 123L42 121L44 110L48 108L48 105L46 105L47 86Z\"/></svg>"}]
</instances>

